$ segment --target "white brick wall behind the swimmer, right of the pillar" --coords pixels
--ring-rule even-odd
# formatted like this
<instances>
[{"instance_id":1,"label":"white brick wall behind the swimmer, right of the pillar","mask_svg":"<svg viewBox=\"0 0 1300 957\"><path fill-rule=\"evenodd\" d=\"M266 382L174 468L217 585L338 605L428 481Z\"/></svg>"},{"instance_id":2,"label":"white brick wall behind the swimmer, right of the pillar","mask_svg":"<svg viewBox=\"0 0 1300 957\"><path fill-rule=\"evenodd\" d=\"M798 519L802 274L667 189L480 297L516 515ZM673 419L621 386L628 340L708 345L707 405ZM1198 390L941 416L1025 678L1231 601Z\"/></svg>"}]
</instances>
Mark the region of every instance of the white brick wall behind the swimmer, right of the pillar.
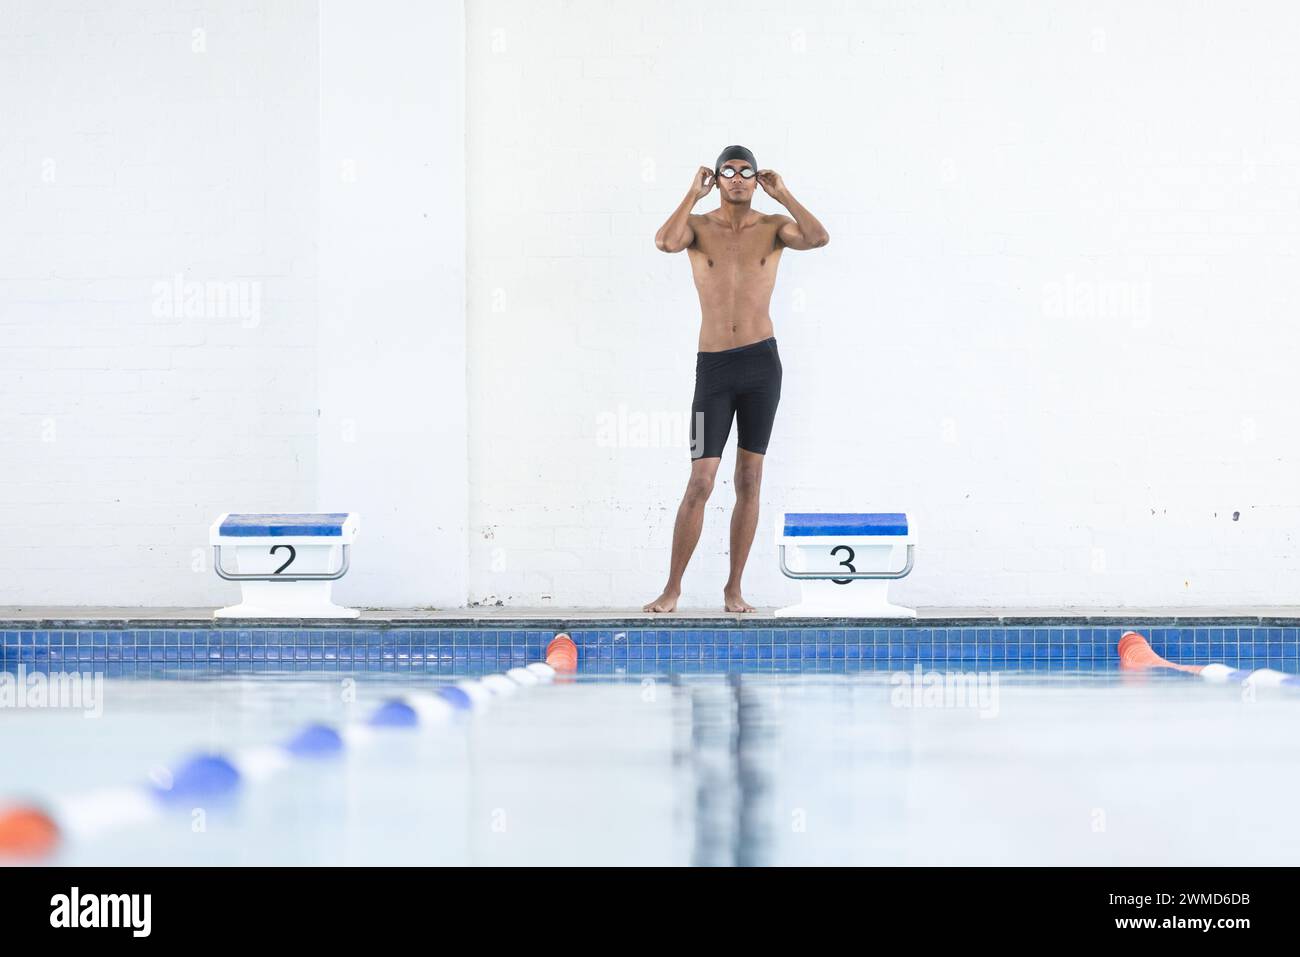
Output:
<instances>
[{"instance_id":1,"label":"white brick wall behind the swimmer, right of the pillar","mask_svg":"<svg viewBox=\"0 0 1300 957\"><path fill-rule=\"evenodd\" d=\"M598 424L689 407L698 304L651 237L740 142L832 234L772 303L751 601L793 598L771 520L801 503L913 514L922 606L1300 601L1297 27L1280 1L469 4L471 599L658 593L686 450ZM686 605L720 598L732 495Z\"/></svg>"}]
</instances>

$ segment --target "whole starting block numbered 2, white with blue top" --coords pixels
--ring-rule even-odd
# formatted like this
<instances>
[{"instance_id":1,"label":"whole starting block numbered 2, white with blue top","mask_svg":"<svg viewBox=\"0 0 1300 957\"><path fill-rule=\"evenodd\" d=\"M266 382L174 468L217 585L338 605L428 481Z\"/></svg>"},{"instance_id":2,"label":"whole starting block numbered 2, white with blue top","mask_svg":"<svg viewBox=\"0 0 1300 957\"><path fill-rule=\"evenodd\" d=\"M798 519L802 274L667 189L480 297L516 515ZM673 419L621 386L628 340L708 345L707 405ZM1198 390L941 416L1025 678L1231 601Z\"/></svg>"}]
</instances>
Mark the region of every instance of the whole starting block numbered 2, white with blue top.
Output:
<instances>
[{"instance_id":1,"label":"whole starting block numbered 2, white with blue top","mask_svg":"<svg viewBox=\"0 0 1300 957\"><path fill-rule=\"evenodd\" d=\"M212 562L220 577L239 583L243 601L213 618L356 618L330 589L347 575L359 524L355 512L226 512L212 523ZM235 571L222 549L235 553Z\"/></svg>"}]
</instances>

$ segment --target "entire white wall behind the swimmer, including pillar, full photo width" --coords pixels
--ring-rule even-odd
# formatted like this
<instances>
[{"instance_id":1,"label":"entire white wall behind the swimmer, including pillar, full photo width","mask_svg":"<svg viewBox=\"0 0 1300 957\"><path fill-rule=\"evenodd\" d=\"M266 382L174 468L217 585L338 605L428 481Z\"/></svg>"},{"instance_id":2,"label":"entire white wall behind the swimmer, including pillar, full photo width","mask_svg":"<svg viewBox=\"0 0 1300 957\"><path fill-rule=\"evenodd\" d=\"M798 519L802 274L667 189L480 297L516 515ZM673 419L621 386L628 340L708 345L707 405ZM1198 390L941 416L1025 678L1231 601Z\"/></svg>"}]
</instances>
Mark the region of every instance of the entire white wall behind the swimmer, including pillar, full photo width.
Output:
<instances>
[{"instance_id":1,"label":"entire white wall behind the swimmer, including pillar, full photo width","mask_svg":"<svg viewBox=\"0 0 1300 957\"><path fill-rule=\"evenodd\" d=\"M459 5L348 9L0 9L0 603L222 603L211 519L317 506L346 601L653 597L698 304L651 237L734 142L832 234L751 601L788 505L911 512L922 606L1297 601L1294 5L472 0L463 68Z\"/></svg>"}]
</instances>

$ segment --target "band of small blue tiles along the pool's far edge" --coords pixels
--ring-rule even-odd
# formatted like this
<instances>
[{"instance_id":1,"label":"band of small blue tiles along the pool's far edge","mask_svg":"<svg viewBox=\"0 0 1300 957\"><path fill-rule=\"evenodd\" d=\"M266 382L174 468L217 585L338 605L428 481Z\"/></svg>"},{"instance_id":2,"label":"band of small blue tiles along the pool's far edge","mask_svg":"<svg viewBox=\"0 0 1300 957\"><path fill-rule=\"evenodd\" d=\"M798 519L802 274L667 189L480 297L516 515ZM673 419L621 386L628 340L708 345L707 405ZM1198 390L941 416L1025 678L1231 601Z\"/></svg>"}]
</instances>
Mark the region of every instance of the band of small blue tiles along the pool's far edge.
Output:
<instances>
[{"instance_id":1,"label":"band of small blue tiles along the pool's far edge","mask_svg":"<svg viewBox=\"0 0 1300 957\"><path fill-rule=\"evenodd\" d=\"M22 627L27 624L29 627ZM556 628L477 627L30 627L0 622L0 670L170 672L376 671L477 674L542 659ZM569 625L584 674L853 672L915 664L987 670L1114 668L1121 635L1145 635L1180 663L1222 662L1300 672L1300 622L1287 625L1008 627L681 627ZM764 623L766 624L766 623Z\"/></svg>"}]
</instances>

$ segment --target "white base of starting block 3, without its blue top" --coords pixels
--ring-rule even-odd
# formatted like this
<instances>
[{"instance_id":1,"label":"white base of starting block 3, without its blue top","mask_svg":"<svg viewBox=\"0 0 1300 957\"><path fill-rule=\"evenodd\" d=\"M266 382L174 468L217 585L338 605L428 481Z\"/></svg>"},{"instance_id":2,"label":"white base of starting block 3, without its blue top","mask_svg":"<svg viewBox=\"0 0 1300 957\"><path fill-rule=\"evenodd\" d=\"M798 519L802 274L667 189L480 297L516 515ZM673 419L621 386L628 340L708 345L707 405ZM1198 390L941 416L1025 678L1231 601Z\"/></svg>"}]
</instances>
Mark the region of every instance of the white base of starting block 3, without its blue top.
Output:
<instances>
[{"instance_id":1,"label":"white base of starting block 3, without its blue top","mask_svg":"<svg viewBox=\"0 0 1300 957\"><path fill-rule=\"evenodd\" d=\"M793 518L793 516L792 516ZM852 518L852 516L850 516ZM883 518L883 516L879 516ZM898 516L906 521L904 516ZM800 524L793 518L794 524ZM777 609L776 618L915 618L916 610L889 601L894 579L835 581L852 572L898 572L907 564L907 549L915 545L909 528L904 534L786 534L785 516L776 527L777 547L785 549L792 572L816 572L815 579L797 579L801 601ZM845 566L845 562L852 566Z\"/></svg>"}]
</instances>

